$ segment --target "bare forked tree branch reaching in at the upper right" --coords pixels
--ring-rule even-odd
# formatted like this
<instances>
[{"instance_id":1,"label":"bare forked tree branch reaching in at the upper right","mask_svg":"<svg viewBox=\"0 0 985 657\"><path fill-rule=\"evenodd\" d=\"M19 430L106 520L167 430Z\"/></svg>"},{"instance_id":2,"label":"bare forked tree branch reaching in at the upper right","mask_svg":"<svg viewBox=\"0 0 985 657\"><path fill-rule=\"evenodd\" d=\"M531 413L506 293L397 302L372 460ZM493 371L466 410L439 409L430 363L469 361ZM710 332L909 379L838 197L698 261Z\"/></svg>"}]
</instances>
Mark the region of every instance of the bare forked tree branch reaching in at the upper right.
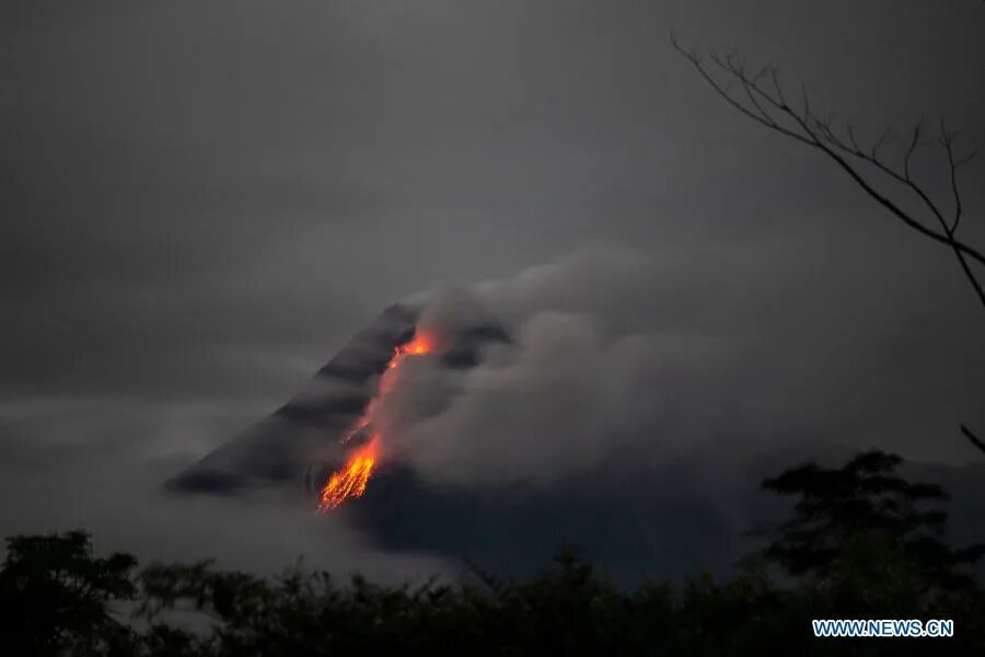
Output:
<instances>
[{"instance_id":1,"label":"bare forked tree branch reaching in at the upper right","mask_svg":"<svg viewBox=\"0 0 985 657\"><path fill-rule=\"evenodd\" d=\"M958 169L974 155L959 158L954 152L954 141L958 132L948 130L943 122L937 142L947 154L948 176L951 195L954 201L953 214L950 219L930 195L913 177L911 163L916 151L928 142L922 140L924 134L923 122L918 123L912 132L908 146L902 159L901 165L893 165L882 154L881 150L896 138L892 130L884 131L871 147L865 148L858 139L854 127L845 126L844 131L834 127L832 117L820 118L811 110L810 99L806 88L801 88L802 107L792 107L784 93L784 85L779 80L779 71L773 66L764 67L757 74L750 76L744 64L732 55L721 57L715 51L708 51L705 61L696 51L683 48L675 33L671 33L673 47L684 56L704 78L704 80L729 105L738 110L746 117L753 119L770 130L789 137L800 143L816 149L833 160L851 180L854 180L872 199L905 226L920 234L948 246L961 267L964 277L972 286L978 302L985 308L985 289L980 277L972 268L985 266L985 255L973 245L957 237L961 224L962 204L957 182ZM728 83L722 83L725 78ZM733 88L741 88L741 95L733 92ZM927 214L927 219L922 219L914 212L877 189L878 175L867 175L857 164L864 164L882 174L883 180L889 180L903 185L914 197L919 200Z\"/></svg>"}]
</instances>

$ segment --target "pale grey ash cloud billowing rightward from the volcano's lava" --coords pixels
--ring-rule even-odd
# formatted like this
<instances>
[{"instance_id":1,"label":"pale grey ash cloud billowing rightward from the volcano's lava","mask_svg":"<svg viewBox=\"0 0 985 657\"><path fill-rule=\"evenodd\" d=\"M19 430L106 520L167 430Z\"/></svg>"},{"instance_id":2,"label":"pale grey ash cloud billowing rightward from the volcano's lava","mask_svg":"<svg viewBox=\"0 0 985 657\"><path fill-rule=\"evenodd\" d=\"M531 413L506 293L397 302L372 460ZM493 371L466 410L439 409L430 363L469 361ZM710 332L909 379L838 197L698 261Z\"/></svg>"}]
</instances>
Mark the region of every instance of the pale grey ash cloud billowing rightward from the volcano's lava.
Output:
<instances>
[{"instance_id":1,"label":"pale grey ash cloud billowing rightward from the volcano's lava","mask_svg":"<svg viewBox=\"0 0 985 657\"><path fill-rule=\"evenodd\" d=\"M374 422L393 458L457 485L548 486L621 461L657 470L799 442L946 458L941 437L983 419L981 368L966 365L985 354L942 339L961 311L941 306L928 321L927 308L900 303L900 287L873 304L874 290L851 285L856 272L819 281L819 263L796 262L799 246L690 260L595 246L470 291L437 290L422 318L461 325L491 313L513 339L465 371L406 362ZM783 280L770 273L780 264ZM797 303L807 285L830 301ZM777 312L781 303L789 310ZM888 308L899 313L892 327Z\"/></svg>"}]
</instances>

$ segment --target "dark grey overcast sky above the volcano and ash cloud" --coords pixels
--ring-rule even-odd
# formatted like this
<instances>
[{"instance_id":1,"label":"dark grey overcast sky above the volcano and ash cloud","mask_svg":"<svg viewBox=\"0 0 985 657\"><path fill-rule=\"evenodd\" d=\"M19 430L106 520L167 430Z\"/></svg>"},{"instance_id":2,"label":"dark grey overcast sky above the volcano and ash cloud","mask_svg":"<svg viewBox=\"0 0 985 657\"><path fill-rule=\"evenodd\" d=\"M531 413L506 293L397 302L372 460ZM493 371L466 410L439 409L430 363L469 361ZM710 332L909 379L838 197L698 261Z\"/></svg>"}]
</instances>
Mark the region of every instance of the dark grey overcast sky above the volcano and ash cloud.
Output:
<instances>
[{"instance_id":1,"label":"dark grey overcast sky above the volcano and ash cloud","mask_svg":"<svg viewBox=\"0 0 985 657\"><path fill-rule=\"evenodd\" d=\"M727 108L672 27L873 135L945 113L985 148L972 0L4 2L2 529L90 517L25 503L44 482L200 456L396 299L600 242L801 355L766 371L896 385L856 430L973 458L985 319L949 254ZM971 223L985 160L964 175Z\"/></svg>"}]
</instances>

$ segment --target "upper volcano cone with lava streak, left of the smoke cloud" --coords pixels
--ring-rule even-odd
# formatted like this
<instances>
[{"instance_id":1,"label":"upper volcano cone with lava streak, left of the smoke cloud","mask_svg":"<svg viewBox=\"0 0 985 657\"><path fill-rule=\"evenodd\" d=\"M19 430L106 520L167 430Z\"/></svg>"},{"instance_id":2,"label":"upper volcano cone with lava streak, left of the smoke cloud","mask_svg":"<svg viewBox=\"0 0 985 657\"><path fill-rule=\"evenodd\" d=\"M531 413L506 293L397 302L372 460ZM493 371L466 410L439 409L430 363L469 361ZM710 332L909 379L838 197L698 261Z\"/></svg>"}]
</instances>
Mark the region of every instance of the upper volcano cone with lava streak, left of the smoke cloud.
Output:
<instances>
[{"instance_id":1,"label":"upper volcano cone with lava streak, left of the smoke cloud","mask_svg":"<svg viewBox=\"0 0 985 657\"><path fill-rule=\"evenodd\" d=\"M382 474L380 458L389 458L393 436L369 408L404 384L399 364L427 354L438 369L467 369L479 362L484 345L510 342L506 331L485 316L450 322L432 318L425 325L438 328L421 331L422 311L399 303L384 310L303 390L175 474L166 489L235 495L280 488L294 495L301 488L322 512L359 497L369 479ZM378 426L371 426L372 419Z\"/></svg>"}]
</instances>

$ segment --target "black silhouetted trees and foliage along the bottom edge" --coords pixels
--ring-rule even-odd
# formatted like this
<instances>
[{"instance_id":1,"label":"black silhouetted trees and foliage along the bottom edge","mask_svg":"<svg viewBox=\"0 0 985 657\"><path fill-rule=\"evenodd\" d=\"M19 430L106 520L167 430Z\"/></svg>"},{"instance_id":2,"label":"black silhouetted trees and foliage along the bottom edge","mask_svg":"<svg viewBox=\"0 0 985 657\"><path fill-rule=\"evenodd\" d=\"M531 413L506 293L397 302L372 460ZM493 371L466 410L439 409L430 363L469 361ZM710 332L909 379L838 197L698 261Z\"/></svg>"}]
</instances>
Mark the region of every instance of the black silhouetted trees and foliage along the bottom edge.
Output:
<instances>
[{"instance_id":1,"label":"black silhouetted trees and foliage along the bottom edge","mask_svg":"<svg viewBox=\"0 0 985 657\"><path fill-rule=\"evenodd\" d=\"M525 581L475 569L456 583L378 586L208 562L135 573L132 557L93 556L84 533L15 538L0 574L0 654L982 654L985 602L962 570L982 549L943 542L947 515L923 508L943 491L903 481L899 463L870 452L767 480L797 503L764 552L730 580L700 576L681 590L621 589L573 550ZM127 600L128 613L114 607ZM953 619L955 636L814 638L811 619L825 618Z\"/></svg>"}]
</instances>

